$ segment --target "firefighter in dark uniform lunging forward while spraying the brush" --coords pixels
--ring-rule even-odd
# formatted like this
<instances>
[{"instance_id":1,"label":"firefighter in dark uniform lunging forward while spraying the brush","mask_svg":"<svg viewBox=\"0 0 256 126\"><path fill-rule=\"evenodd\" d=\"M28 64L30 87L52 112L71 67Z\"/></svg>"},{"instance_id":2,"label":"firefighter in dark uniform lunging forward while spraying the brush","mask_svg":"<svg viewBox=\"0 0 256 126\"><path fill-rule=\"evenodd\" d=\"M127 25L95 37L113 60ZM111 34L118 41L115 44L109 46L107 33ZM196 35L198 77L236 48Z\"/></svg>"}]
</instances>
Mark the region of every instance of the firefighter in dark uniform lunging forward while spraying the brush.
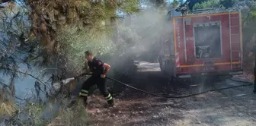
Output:
<instances>
[{"instance_id":1,"label":"firefighter in dark uniform lunging forward while spraying the brush","mask_svg":"<svg viewBox=\"0 0 256 126\"><path fill-rule=\"evenodd\" d=\"M110 65L104 63L100 59L94 57L91 51L85 52L85 58L88 61L88 66L90 71L92 72L91 77L82 84L82 90L80 90L80 96L83 97L84 106L87 107L88 102L88 90L94 84L97 84L98 89L101 91L102 95L107 100L108 106L114 106L114 99L111 94L107 91L107 84L106 84L106 74L110 70ZM84 76L85 73L78 75L77 77ZM76 78L76 77L75 77ZM71 107L76 101L73 99L69 107Z\"/></svg>"}]
</instances>

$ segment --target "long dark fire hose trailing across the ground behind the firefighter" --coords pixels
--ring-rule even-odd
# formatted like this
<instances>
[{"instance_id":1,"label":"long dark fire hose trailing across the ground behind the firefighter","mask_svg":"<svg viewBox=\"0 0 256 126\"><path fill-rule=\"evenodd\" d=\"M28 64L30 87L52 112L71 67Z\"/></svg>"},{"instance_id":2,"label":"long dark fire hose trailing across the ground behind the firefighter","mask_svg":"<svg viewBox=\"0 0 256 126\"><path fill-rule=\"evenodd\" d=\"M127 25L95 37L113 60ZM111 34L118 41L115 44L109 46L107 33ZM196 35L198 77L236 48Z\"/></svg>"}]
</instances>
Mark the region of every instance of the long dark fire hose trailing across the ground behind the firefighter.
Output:
<instances>
[{"instance_id":1,"label":"long dark fire hose trailing across the ground behind the firefighter","mask_svg":"<svg viewBox=\"0 0 256 126\"><path fill-rule=\"evenodd\" d=\"M91 74L85 74L85 75L91 75ZM228 78L229 80L232 80L232 81L235 81L235 82L239 82L239 83L248 83L248 84L242 84L242 85L238 85L238 86L233 86L233 87L224 87L224 88L219 88L219 89L214 89L214 90L206 90L206 91L203 91L203 92L200 92L200 93L193 93L193 94L189 94L189 95L184 95L184 96L162 96L162 95L158 95L158 94L155 94L155 93L149 93L145 90L140 90L136 87L132 87L130 86L129 84L126 84L126 83L123 83L121 82L120 80L116 80L114 78L111 78L111 77L106 77L107 79L110 79L110 80L114 80L116 81L117 83L120 83L126 87L130 87L132 88L133 90L137 90L137 91L140 91L142 93L146 93L146 94L149 94L149 95L152 95L152 96L158 96L158 97L162 97L162 98L168 98L168 99L181 99L181 98L186 98L186 97L190 97L190 96L197 96L197 95L200 95L200 94L203 94L203 93L208 93L208 92L213 92L213 91L218 91L218 90L227 90L227 89L231 89L231 88L235 88L235 87L247 87L247 86L251 86L253 85L253 83L251 82L248 82L248 81L242 81L242 80L233 80L231 78ZM75 79L75 77L74 77Z\"/></svg>"}]
</instances>

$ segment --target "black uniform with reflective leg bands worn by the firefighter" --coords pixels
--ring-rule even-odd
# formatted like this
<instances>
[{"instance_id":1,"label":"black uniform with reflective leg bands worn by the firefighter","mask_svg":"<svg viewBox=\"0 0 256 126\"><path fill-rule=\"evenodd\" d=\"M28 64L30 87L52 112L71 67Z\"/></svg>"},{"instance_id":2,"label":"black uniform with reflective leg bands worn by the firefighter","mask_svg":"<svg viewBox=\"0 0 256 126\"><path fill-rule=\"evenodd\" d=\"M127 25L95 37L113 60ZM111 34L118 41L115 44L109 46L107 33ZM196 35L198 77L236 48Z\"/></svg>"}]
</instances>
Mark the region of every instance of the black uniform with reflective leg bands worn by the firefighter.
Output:
<instances>
[{"instance_id":1,"label":"black uniform with reflective leg bands worn by the firefighter","mask_svg":"<svg viewBox=\"0 0 256 126\"><path fill-rule=\"evenodd\" d=\"M82 85L82 90L80 91L80 95L84 97L85 102L87 101L88 90L94 84L97 84L98 89L101 91L102 95L107 99L108 104L113 105L114 99L107 91L106 78L102 78L101 74L104 73L104 62L102 62L98 58L93 58L92 61L88 61L88 66L92 71L91 77L85 81Z\"/></svg>"}]
</instances>

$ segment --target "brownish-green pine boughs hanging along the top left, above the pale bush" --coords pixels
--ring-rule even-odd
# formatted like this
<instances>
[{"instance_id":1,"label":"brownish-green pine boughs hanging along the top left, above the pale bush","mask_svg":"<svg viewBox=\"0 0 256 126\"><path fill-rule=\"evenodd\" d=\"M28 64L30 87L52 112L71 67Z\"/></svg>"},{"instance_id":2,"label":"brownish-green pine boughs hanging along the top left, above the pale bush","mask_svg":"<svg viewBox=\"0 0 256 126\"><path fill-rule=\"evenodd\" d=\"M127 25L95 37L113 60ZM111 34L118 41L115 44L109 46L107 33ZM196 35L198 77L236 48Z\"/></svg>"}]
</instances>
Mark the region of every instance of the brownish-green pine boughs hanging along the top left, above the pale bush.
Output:
<instances>
[{"instance_id":1,"label":"brownish-green pine boughs hanging along the top left, above the pale bush","mask_svg":"<svg viewBox=\"0 0 256 126\"><path fill-rule=\"evenodd\" d=\"M42 5L40 3L47 4ZM55 39L59 37L56 34L62 30L62 27L74 27L73 30L75 32L78 30L88 32L88 30L101 28L103 22L104 25L111 27L109 23L118 18L117 10L126 14L133 14L133 12L139 11L139 2L136 0L118 2L29 0L27 4L35 10L30 14L33 20L34 34L44 36L41 42L47 47L48 52L56 52L56 46L58 45L56 43L58 41ZM39 31L37 26L40 27Z\"/></svg>"}]
</instances>

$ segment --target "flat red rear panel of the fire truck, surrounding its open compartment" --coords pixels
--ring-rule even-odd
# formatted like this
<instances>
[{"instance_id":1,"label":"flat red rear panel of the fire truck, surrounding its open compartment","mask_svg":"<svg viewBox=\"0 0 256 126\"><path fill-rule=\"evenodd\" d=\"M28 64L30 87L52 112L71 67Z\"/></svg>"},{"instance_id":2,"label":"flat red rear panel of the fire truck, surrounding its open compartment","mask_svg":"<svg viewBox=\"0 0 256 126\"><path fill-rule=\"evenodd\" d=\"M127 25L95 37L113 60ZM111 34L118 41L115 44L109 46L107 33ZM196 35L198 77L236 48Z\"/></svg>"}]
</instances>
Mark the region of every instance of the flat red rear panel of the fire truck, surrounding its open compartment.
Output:
<instances>
[{"instance_id":1,"label":"flat red rear panel of the fire truck, surrounding its open compartment","mask_svg":"<svg viewBox=\"0 0 256 126\"><path fill-rule=\"evenodd\" d=\"M180 67L176 69L177 74L242 70L242 27L240 18L238 12L175 17L173 19L174 52L180 55ZM197 37L195 36L195 30L197 29L195 26L197 27L197 25L219 25L219 43L221 45L221 55L219 57L197 58L194 43L195 37ZM214 30L215 33L216 31L218 30ZM199 34L203 36L203 33ZM211 39L207 38L206 40L210 41Z\"/></svg>"}]
</instances>

